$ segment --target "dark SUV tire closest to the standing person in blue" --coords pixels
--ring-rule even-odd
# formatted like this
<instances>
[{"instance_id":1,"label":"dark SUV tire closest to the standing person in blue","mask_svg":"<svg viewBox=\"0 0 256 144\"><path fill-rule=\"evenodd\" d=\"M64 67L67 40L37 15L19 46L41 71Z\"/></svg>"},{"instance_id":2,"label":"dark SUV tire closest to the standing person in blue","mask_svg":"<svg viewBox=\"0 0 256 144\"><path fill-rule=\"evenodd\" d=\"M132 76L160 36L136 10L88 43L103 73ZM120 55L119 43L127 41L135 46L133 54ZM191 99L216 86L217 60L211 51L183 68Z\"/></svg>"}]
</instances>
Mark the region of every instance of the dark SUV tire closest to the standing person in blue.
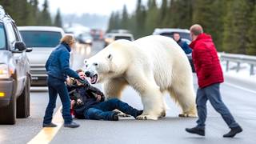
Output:
<instances>
[{"instance_id":1,"label":"dark SUV tire closest to the standing person in blue","mask_svg":"<svg viewBox=\"0 0 256 144\"><path fill-rule=\"evenodd\" d=\"M30 116L30 77L26 78L26 86L17 99L17 118Z\"/></svg>"}]
</instances>

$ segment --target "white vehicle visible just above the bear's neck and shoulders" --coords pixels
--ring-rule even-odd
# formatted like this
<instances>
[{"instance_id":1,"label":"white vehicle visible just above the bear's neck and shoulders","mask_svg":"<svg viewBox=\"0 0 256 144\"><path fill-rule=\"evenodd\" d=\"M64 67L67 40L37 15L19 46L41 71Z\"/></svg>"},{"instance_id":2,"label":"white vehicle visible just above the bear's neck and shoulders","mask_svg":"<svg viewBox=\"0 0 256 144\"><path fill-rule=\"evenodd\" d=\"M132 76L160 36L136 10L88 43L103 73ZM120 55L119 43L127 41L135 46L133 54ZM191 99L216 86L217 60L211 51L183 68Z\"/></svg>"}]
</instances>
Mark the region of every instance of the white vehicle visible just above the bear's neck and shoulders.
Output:
<instances>
[{"instance_id":1,"label":"white vehicle visible just above the bear's neck and shoulders","mask_svg":"<svg viewBox=\"0 0 256 144\"><path fill-rule=\"evenodd\" d=\"M126 34L126 33L108 33L105 35L105 47L108 46L111 42L114 42L118 39L126 39L129 41L134 41L133 34Z\"/></svg>"}]
</instances>

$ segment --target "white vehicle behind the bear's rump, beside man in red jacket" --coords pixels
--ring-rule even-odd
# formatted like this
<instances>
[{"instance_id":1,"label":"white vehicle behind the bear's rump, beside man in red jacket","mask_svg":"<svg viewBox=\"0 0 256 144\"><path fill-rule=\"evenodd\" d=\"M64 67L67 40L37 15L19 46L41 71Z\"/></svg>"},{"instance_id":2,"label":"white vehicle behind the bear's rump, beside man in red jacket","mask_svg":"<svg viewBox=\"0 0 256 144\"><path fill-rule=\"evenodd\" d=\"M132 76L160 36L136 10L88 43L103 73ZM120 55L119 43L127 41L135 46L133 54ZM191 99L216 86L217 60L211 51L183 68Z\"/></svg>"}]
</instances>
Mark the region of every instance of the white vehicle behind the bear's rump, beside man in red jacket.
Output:
<instances>
[{"instance_id":1,"label":"white vehicle behind the bear's rump, beside man in red jacket","mask_svg":"<svg viewBox=\"0 0 256 144\"><path fill-rule=\"evenodd\" d=\"M162 35L162 36L166 36L169 38L174 38L174 33L180 34L182 40L185 41L188 45L190 44L190 42L191 42L190 30L187 30L187 29L174 29L174 28L159 29L159 28L157 28L157 29L154 29L153 35ZM192 55L186 54L186 56L190 61L190 66L192 68L192 71L195 72Z\"/></svg>"}]
</instances>

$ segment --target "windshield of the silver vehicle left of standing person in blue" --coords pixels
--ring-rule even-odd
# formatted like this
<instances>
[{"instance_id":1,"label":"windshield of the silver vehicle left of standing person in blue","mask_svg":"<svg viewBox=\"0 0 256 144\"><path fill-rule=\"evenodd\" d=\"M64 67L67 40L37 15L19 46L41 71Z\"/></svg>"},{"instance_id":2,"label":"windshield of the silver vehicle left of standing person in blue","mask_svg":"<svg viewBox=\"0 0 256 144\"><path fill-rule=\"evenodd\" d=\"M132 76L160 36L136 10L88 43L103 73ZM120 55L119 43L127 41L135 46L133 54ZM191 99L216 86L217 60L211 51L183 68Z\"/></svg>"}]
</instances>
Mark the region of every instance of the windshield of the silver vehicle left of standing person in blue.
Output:
<instances>
[{"instance_id":1,"label":"windshield of the silver vehicle left of standing person in blue","mask_svg":"<svg viewBox=\"0 0 256 144\"><path fill-rule=\"evenodd\" d=\"M55 47L62 38L60 32L21 30L22 38L28 47Z\"/></svg>"}]
</instances>

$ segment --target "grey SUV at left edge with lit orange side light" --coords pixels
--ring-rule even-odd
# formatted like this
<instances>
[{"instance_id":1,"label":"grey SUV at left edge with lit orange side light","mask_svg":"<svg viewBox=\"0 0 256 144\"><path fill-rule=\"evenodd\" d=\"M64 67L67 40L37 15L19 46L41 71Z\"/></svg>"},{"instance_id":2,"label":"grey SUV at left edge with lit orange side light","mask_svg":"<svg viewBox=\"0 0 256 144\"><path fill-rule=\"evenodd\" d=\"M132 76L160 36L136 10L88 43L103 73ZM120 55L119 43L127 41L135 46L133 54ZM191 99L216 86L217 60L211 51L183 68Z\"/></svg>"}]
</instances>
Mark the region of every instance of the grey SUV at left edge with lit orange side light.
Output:
<instances>
[{"instance_id":1,"label":"grey SUV at left edge with lit orange side light","mask_svg":"<svg viewBox=\"0 0 256 144\"><path fill-rule=\"evenodd\" d=\"M14 20L0 5L0 124L30 116L30 64Z\"/></svg>"}]
</instances>

